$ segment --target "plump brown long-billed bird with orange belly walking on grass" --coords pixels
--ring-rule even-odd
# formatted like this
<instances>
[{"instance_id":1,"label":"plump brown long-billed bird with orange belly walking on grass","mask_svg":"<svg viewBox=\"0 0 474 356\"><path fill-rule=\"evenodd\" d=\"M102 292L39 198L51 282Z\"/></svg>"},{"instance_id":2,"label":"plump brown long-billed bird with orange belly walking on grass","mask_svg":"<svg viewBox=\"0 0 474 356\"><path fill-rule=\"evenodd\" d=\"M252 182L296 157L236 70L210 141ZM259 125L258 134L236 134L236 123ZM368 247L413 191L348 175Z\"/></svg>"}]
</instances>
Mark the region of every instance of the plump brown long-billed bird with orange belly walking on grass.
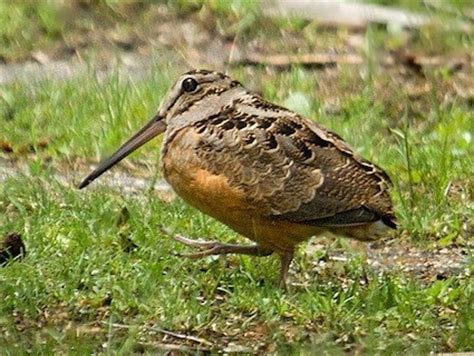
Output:
<instances>
[{"instance_id":1,"label":"plump brown long-billed bird with orange belly walking on grass","mask_svg":"<svg viewBox=\"0 0 474 356\"><path fill-rule=\"evenodd\" d=\"M397 228L381 168L315 121L205 69L182 74L157 114L79 188L162 133L160 168L178 196L254 242L174 236L198 248L188 257L276 254L286 288L295 248L309 238L374 241Z\"/></svg>"}]
</instances>

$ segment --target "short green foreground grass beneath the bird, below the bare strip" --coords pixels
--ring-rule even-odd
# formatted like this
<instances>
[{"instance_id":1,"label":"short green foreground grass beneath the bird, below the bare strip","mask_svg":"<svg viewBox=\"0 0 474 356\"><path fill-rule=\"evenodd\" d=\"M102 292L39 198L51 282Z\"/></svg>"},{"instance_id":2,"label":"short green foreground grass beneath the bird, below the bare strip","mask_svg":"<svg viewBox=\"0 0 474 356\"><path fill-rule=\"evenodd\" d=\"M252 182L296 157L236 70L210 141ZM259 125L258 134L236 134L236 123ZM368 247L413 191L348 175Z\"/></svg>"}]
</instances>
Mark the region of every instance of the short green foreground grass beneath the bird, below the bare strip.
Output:
<instances>
[{"instance_id":1,"label":"short green foreground grass beneath the bird, below the bare strip","mask_svg":"<svg viewBox=\"0 0 474 356\"><path fill-rule=\"evenodd\" d=\"M24 231L30 251L0 277L2 341L11 352L130 352L138 340L156 339L150 325L246 346L245 335L255 333L254 342L293 349L472 347L473 291L462 277L426 285L379 274L356 253L320 273L315 256L304 255L294 276L304 284L285 294L275 288L272 259L174 256L182 247L157 232L163 222L189 235L237 239L180 201L124 197L105 187L78 193L38 173L9 180L0 196L11 219L3 229ZM130 219L117 226L123 207ZM124 252L120 236L139 248ZM105 323L99 330L98 321ZM130 328L109 329L115 323Z\"/></svg>"}]
</instances>

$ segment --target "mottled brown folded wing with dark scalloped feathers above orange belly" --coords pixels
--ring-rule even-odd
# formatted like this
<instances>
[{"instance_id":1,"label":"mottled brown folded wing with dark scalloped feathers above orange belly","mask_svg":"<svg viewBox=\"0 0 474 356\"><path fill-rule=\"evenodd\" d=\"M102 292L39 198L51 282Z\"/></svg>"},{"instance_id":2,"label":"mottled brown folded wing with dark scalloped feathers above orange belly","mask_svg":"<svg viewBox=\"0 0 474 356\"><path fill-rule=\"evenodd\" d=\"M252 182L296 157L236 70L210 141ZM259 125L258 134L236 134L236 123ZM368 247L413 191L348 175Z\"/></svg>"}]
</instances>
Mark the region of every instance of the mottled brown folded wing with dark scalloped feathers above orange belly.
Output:
<instances>
[{"instance_id":1,"label":"mottled brown folded wing with dark scalloped feathers above orange belly","mask_svg":"<svg viewBox=\"0 0 474 356\"><path fill-rule=\"evenodd\" d=\"M287 109L249 96L196 129L207 169L224 172L264 215L320 226L395 224L388 176Z\"/></svg>"}]
</instances>

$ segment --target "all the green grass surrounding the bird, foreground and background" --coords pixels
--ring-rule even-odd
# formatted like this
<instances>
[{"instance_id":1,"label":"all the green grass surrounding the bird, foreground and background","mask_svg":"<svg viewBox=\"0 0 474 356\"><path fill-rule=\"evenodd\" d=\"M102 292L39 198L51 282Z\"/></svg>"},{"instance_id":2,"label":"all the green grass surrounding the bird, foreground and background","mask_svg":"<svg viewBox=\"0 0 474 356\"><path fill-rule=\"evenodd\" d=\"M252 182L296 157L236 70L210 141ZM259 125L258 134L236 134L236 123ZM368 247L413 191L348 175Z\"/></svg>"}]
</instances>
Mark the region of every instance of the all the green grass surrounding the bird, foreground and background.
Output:
<instances>
[{"instance_id":1,"label":"all the green grass surrounding the bird, foreground and background","mask_svg":"<svg viewBox=\"0 0 474 356\"><path fill-rule=\"evenodd\" d=\"M27 14L40 14L46 11L42 7L51 6L15 4L23 17L8 21L19 21L17 27L28 22L22 20L29 19ZM120 17L122 10L113 2L97 4L112 6L113 16ZM196 21L196 11L209 11L219 16L223 29L229 19L239 23L245 17L242 9L219 1L204 9L201 2L176 6L172 11ZM295 33L301 29L308 48L314 43L325 47L330 38L344 36L321 30L322 37L324 31L329 37L314 38L307 28L312 25L299 20L276 21L265 28L258 11L245 6L254 16L245 21L258 31L247 31L245 22L241 29L229 30L240 31L245 41L268 36L268 47L277 48L278 26ZM10 9L3 8L5 14L10 16ZM50 26L62 34L69 31ZM0 37L13 36L5 35L5 28ZM40 47L56 43L57 34L50 35L54 31L25 31L44 41L32 41ZM410 45L446 54L472 43L465 35L453 40L441 31L435 32L437 41L429 31L422 30ZM397 34L380 28L364 36L369 59L401 43ZM19 47L3 47L11 51L6 54L9 61L33 49L23 42ZM163 352L163 343L180 343L194 351L232 350L234 345L234 350L240 346L243 351L329 354L474 349L470 256L467 275L425 280L400 270L376 269L347 241L325 240L322 250L299 251L292 268L294 286L283 293L275 288L276 259L191 261L176 256L185 249L161 234L160 224L189 236L245 242L181 200L165 202L151 189L125 194L100 181L86 191L75 189L87 170L85 163L100 160L141 127L184 69L157 64L137 81L118 67L105 80L91 72L68 81L0 87L0 158L26 165L30 172L0 185L0 237L21 232L28 251L23 261L0 269L0 344L6 345L2 352L151 353ZM266 98L330 127L389 172L400 220L393 237L399 244L420 251L469 246L474 118L472 102L453 97L453 83L460 80L456 74L441 67L416 77L377 65L340 66L335 72L299 67L278 73L237 67L231 72ZM410 94L409 85L426 83L429 89L423 95ZM156 140L130 158L127 167L134 168L132 174L153 175L159 144ZM57 171L66 173L68 180L58 179ZM347 261L330 258L340 251ZM207 342L165 338L161 329Z\"/></svg>"}]
</instances>

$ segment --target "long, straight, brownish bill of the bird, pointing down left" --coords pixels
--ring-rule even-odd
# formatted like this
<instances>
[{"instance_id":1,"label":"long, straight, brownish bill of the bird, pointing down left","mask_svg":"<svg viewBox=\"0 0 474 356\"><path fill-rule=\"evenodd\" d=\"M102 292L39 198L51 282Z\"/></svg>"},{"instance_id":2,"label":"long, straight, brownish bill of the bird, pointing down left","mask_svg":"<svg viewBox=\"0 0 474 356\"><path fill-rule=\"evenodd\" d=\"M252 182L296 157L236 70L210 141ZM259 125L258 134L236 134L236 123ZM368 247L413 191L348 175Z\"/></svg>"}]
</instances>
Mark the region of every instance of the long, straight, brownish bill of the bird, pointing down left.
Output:
<instances>
[{"instance_id":1,"label":"long, straight, brownish bill of the bird, pointing down left","mask_svg":"<svg viewBox=\"0 0 474 356\"><path fill-rule=\"evenodd\" d=\"M122 159L127 157L130 153L135 151L137 148L143 146L145 143L150 141L153 137L164 132L166 124L163 118L159 115L155 116L150 122L148 122L140 131L138 131L130 140L125 142L117 152L112 156L104 160L99 166L93 170L79 185L79 189L87 187L92 181L100 177L109 168L120 162Z\"/></svg>"}]
</instances>

